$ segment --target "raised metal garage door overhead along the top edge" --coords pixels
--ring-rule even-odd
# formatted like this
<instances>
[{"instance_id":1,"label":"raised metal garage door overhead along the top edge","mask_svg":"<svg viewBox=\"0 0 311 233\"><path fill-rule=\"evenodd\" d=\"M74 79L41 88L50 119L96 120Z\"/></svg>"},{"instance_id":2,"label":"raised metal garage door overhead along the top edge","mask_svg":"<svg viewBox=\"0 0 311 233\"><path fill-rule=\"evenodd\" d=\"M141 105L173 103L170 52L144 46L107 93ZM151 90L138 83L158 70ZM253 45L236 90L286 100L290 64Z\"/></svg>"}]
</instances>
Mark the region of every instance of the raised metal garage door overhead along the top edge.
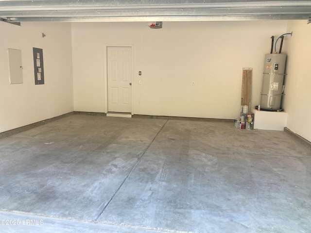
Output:
<instances>
[{"instance_id":1,"label":"raised metal garage door overhead along the top edge","mask_svg":"<svg viewBox=\"0 0 311 233\"><path fill-rule=\"evenodd\" d=\"M311 0L0 0L7 22L311 19Z\"/></svg>"}]
</instances>

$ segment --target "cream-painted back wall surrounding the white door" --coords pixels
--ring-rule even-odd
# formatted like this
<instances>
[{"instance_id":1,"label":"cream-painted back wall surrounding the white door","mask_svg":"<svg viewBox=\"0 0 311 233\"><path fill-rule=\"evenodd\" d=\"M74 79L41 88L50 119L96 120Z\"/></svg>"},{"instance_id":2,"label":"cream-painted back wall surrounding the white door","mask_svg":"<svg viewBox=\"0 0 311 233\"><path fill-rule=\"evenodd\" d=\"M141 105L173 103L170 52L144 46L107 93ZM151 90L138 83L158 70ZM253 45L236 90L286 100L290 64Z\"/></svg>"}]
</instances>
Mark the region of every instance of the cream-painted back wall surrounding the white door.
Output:
<instances>
[{"instance_id":1,"label":"cream-painted back wall surrounding the white door","mask_svg":"<svg viewBox=\"0 0 311 233\"><path fill-rule=\"evenodd\" d=\"M258 105L264 54L286 23L164 22L162 29L72 23L74 110L106 111L105 45L127 44L134 45L134 114L234 119L242 68L253 68L252 105Z\"/></svg>"}]
</instances>

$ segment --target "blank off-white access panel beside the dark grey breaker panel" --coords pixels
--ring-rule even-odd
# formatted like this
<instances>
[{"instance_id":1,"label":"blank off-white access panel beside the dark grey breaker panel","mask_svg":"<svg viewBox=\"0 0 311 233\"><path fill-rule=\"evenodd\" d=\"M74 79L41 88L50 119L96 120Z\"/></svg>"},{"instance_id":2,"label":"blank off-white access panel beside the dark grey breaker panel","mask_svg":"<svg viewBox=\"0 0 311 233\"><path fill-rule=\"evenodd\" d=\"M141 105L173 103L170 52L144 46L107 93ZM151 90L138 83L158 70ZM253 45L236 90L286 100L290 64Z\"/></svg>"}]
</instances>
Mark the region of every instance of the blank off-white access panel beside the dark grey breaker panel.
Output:
<instances>
[{"instance_id":1,"label":"blank off-white access panel beside the dark grey breaker panel","mask_svg":"<svg viewBox=\"0 0 311 233\"><path fill-rule=\"evenodd\" d=\"M10 84L23 83L23 66L21 50L8 49Z\"/></svg>"}]
</instances>

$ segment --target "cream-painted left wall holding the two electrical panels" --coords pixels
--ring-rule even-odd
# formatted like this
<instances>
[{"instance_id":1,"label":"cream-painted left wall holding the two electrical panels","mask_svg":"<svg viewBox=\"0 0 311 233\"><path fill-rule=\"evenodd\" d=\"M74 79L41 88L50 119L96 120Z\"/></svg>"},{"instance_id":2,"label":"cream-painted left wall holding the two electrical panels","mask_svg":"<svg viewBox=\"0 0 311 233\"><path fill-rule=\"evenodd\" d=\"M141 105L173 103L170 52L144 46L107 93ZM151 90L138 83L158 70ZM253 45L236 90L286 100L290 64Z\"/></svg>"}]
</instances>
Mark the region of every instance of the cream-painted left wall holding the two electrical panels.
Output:
<instances>
[{"instance_id":1,"label":"cream-painted left wall holding the two electrical panels","mask_svg":"<svg viewBox=\"0 0 311 233\"><path fill-rule=\"evenodd\" d=\"M0 31L0 132L72 112L70 24L0 22ZM43 49L44 85L35 85L33 47ZM9 84L8 48L21 50L22 84Z\"/></svg>"}]
</instances>

